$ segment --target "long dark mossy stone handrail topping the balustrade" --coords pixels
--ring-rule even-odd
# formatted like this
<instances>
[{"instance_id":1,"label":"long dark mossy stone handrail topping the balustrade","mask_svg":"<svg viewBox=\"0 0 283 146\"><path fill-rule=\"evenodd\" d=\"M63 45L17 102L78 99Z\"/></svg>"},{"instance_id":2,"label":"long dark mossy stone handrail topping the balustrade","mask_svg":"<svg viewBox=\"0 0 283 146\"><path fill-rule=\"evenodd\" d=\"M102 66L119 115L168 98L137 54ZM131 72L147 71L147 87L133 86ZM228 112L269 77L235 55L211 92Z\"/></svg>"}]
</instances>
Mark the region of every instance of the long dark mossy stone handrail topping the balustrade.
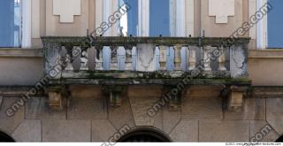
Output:
<instances>
[{"instance_id":1,"label":"long dark mossy stone handrail topping the balustrade","mask_svg":"<svg viewBox=\"0 0 283 146\"><path fill-rule=\"evenodd\" d=\"M60 43L65 45L92 45L92 46L124 46L136 45L137 43L153 43L156 45L172 46L175 44L182 45L210 45L229 47L234 44L249 44L249 37L240 37L237 39L229 37L132 37L132 36L99 36L89 39L87 36L42 36L42 41L51 43Z\"/></svg>"}]
</instances>

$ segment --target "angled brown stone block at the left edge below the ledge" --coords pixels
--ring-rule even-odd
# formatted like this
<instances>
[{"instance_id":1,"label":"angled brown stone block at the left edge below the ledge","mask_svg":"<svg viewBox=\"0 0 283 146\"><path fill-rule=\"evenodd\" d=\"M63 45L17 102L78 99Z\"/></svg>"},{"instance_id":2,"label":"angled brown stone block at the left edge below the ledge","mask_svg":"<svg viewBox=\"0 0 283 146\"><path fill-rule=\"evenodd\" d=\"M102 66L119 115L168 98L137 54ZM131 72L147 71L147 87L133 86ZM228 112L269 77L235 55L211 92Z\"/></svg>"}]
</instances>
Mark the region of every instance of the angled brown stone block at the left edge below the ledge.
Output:
<instances>
[{"instance_id":1,"label":"angled brown stone block at the left edge below the ledge","mask_svg":"<svg viewBox=\"0 0 283 146\"><path fill-rule=\"evenodd\" d=\"M24 119L25 101L18 97L4 97L0 111L0 129L10 133ZM9 112L9 115L7 113Z\"/></svg>"}]
</instances>

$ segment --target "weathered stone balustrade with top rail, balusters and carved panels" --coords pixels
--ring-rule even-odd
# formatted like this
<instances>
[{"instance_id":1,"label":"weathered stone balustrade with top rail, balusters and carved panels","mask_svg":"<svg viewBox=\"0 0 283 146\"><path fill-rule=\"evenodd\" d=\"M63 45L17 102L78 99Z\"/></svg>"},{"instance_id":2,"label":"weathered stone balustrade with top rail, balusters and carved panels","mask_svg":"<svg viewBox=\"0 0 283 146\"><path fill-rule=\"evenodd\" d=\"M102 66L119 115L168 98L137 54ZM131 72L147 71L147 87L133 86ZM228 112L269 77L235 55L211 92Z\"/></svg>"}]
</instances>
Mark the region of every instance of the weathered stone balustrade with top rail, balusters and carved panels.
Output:
<instances>
[{"instance_id":1,"label":"weathered stone balustrade with top rail, balusters and carved panels","mask_svg":"<svg viewBox=\"0 0 283 146\"><path fill-rule=\"evenodd\" d=\"M192 71L204 79L248 77L249 38L97 37L89 42L46 36L42 41L45 73L55 74L54 79L182 78ZM105 48L111 58L103 56ZM166 67L170 48L171 69Z\"/></svg>"}]
</instances>

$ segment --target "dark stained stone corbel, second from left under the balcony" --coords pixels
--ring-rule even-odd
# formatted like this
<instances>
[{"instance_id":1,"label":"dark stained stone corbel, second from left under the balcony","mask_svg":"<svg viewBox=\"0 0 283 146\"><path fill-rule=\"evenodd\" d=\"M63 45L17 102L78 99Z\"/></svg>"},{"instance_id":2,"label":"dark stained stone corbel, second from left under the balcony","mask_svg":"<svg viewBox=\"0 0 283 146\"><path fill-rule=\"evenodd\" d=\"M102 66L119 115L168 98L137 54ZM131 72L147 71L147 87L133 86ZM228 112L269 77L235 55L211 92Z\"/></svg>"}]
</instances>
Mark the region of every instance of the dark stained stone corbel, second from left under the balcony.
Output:
<instances>
[{"instance_id":1,"label":"dark stained stone corbel, second from left under the balcony","mask_svg":"<svg viewBox=\"0 0 283 146\"><path fill-rule=\"evenodd\" d=\"M109 96L109 104L111 107L120 107L122 105L122 96L126 91L126 86L104 86L103 92Z\"/></svg>"}]
</instances>

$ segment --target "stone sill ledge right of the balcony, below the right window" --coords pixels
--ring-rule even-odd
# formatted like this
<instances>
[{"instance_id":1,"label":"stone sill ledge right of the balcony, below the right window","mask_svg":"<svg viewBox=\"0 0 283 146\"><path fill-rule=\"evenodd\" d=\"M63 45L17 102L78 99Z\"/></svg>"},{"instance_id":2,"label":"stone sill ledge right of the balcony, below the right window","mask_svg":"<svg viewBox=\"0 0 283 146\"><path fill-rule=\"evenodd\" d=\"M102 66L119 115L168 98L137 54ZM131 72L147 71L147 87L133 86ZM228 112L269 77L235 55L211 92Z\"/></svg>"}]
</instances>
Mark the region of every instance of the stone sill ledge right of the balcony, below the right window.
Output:
<instances>
[{"instance_id":1,"label":"stone sill ledge right of the balcony, below the right window","mask_svg":"<svg viewBox=\"0 0 283 146\"><path fill-rule=\"evenodd\" d=\"M283 50L249 50L249 58L283 58Z\"/></svg>"}]
</instances>

